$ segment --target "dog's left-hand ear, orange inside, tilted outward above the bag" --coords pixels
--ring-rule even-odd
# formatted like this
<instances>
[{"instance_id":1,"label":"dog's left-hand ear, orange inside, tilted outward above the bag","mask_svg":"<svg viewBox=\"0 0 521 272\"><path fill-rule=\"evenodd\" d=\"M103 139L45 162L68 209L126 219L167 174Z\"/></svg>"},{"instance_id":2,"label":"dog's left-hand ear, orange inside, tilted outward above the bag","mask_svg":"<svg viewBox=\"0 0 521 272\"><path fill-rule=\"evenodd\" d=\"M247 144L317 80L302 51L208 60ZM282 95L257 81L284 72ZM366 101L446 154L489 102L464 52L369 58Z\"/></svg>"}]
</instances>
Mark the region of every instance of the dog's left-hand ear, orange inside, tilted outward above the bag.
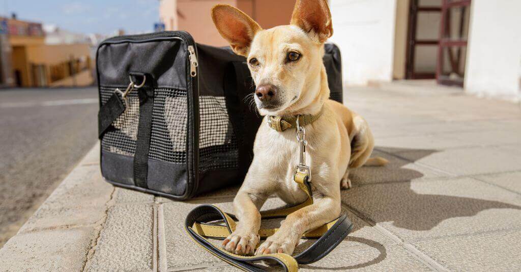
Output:
<instances>
[{"instance_id":1,"label":"dog's left-hand ear, orange inside, tilted outward above the bag","mask_svg":"<svg viewBox=\"0 0 521 272\"><path fill-rule=\"evenodd\" d=\"M215 5L212 8L212 20L233 51L246 57L253 37L262 28L249 16L229 5Z\"/></svg>"}]
</instances>

